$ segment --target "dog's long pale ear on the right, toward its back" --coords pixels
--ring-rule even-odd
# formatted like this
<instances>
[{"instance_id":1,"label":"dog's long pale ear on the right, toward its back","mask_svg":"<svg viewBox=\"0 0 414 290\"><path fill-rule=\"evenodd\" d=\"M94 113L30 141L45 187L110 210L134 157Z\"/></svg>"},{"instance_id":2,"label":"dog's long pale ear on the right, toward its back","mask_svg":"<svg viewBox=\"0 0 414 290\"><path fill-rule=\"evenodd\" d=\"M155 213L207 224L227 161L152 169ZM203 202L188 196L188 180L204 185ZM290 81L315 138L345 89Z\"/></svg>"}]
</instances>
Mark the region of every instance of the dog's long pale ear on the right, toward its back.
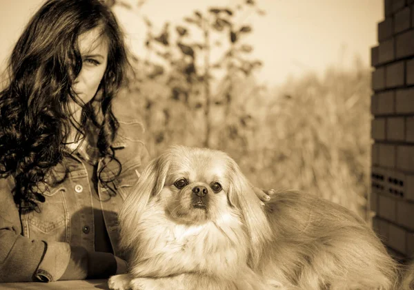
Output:
<instances>
[{"instance_id":1,"label":"dog's long pale ear on the right, toward its back","mask_svg":"<svg viewBox=\"0 0 414 290\"><path fill-rule=\"evenodd\" d=\"M230 169L228 200L242 214L251 243L249 247L250 266L255 267L264 251L266 242L272 236L272 231L263 206L239 165L231 158L228 163Z\"/></svg>"}]
</instances>

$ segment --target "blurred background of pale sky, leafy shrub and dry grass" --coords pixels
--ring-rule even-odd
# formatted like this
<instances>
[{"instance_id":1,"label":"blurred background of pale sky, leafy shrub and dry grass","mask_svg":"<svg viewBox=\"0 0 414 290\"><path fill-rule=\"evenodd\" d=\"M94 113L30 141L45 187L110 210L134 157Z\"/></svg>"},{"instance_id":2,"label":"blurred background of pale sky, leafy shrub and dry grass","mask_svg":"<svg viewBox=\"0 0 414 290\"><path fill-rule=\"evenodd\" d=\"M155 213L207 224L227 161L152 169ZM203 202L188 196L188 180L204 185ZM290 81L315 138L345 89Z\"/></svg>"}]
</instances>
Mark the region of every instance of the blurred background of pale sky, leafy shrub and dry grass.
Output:
<instances>
[{"instance_id":1,"label":"blurred background of pale sky, leafy shrub and dry grass","mask_svg":"<svg viewBox=\"0 0 414 290\"><path fill-rule=\"evenodd\" d=\"M43 0L0 0L0 68ZM221 149L262 188L367 218L380 0L108 0L134 72L115 109L150 154Z\"/></svg>"}]
</instances>

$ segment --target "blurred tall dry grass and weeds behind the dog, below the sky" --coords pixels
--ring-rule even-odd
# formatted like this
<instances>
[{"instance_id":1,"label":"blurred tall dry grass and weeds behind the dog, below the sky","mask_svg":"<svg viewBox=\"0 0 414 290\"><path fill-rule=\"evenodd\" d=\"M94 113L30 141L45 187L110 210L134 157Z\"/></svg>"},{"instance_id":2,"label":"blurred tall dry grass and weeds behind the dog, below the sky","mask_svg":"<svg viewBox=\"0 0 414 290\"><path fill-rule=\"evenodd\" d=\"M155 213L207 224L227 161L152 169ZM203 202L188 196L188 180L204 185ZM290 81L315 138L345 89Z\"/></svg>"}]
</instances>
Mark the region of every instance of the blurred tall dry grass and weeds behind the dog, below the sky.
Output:
<instances>
[{"instance_id":1,"label":"blurred tall dry grass and weeds behind the dog, below the sky","mask_svg":"<svg viewBox=\"0 0 414 290\"><path fill-rule=\"evenodd\" d=\"M260 90L253 78L233 84L233 103L213 110L212 147L228 152L254 185L301 189L366 218L369 185L371 73L328 68L277 90ZM163 83L144 81L125 90L118 107L139 117L152 156L171 144L201 146L205 118L200 88L187 102ZM219 99L219 92L217 92ZM128 112L127 112L128 111Z\"/></svg>"}]
</instances>

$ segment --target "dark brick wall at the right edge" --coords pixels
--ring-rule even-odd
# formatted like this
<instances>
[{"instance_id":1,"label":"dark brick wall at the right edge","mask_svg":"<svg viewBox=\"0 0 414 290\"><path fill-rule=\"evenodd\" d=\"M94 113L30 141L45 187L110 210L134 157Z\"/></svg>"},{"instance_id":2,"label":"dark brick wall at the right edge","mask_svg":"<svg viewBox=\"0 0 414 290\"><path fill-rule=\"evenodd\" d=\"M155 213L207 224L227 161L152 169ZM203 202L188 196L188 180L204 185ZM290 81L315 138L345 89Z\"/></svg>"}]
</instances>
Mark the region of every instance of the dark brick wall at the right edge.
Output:
<instances>
[{"instance_id":1,"label":"dark brick wall at the right edge","mask_svg":"<svg viewBox=\"0 0 414 290\"><path fill-rule=\"evenodd\" d=\"M371 48L373 227L397 257L414 256L414 0L384 0Z\"/></svg>"}]
</instances>

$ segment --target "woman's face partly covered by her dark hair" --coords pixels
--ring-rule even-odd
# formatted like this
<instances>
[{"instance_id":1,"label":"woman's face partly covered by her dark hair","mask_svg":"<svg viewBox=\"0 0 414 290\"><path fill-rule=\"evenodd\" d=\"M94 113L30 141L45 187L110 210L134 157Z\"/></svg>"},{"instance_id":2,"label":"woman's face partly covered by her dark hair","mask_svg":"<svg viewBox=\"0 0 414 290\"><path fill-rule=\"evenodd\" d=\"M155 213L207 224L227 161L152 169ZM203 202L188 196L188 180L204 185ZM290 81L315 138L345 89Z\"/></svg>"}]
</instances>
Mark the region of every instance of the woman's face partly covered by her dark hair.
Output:
<instances>
[{"instance_id":1,"label":"woman's face partly covered by her dark hair","mask_svg":"<svg viewBox=\"0 0 414 290\"><path fill-rule=\"evenodd\" d=\"M72 86L83 103L89 103L97 93L99 83L108 63L108 44L99 34L99 27L93 28L78 37L78 46L82 58L82 69ZM72 112L81 107L74 102Z\"/></svg>"}]
</instances>

